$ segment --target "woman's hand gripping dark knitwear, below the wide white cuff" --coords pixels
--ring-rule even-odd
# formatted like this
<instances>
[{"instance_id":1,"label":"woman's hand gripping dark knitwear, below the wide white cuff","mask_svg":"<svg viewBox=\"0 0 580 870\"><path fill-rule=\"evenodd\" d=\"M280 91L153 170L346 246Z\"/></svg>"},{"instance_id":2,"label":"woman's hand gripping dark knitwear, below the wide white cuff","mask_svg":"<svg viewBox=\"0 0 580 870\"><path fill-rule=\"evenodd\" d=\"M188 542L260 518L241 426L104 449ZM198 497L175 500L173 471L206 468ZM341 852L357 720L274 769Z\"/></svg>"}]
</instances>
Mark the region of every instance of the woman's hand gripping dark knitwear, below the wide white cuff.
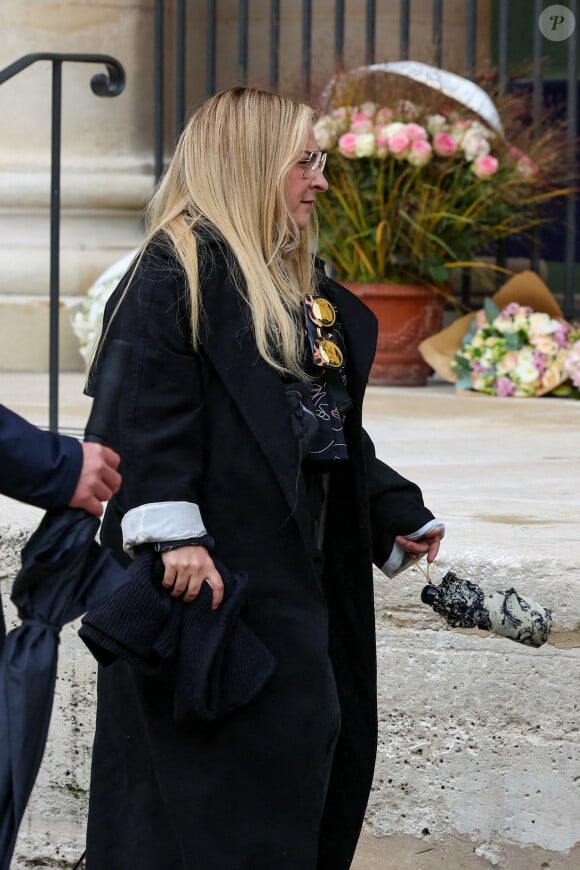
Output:
<instances>
[{"instance_id":1,"label":"woman's hand gripping dark knitwear, below the wide white cuff","mask_svg":"<svg viewBox=\"0 0 580 870\"><path fill-rule=\"evenodd\" d=\"M185 602L199 595L202 583L212 588L212 609L222 603L224 584L205 547L178 547L161 553L165 567L163 586L171 590L172 598L183 596Z\"/></svg>"}]
</instances>

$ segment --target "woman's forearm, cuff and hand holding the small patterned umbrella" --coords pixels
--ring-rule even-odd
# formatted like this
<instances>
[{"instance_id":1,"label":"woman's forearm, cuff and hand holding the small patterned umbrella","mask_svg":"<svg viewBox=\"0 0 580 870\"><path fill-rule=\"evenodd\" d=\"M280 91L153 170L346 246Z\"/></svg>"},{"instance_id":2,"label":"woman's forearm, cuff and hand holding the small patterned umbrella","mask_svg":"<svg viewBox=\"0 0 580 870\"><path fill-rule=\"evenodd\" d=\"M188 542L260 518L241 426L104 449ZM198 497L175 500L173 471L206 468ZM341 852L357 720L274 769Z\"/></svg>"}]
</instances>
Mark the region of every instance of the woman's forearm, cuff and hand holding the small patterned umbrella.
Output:
<instances>
[{"instance_id":1,"label":"woman's forearm, cuff and hand holding the small patterned umbrella","mask_svg":"<svg viewBox=\"0 0 580 870\"><path fill-rule=\"evenodd\" d=\"M373 562L389 577L427 554L432 561L445 533L443 523L425 507L417 484L407 480L375 455L363 432L369 487Z\"/></svg>"}]
</instances>

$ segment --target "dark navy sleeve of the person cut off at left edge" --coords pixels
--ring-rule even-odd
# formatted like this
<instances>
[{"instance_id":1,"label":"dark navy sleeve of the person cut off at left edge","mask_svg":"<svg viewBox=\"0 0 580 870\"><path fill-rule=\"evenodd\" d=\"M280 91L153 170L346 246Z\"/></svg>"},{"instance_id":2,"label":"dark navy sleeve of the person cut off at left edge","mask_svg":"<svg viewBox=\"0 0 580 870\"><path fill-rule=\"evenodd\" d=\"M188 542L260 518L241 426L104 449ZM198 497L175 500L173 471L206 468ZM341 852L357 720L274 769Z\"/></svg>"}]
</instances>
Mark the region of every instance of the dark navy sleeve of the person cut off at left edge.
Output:
<instances>
[{"instance_id":1,"label":"dark navy sleeve of the person cut off at left edge","mask_svg":"<svg viewBox=\"0 0 580 870\"><path fill-rule=\"evenodd\" d=\"M82 468L75 438L44 432L0 405L0 492L45 510L66 507Z\"/></svg>"}]
</instances>

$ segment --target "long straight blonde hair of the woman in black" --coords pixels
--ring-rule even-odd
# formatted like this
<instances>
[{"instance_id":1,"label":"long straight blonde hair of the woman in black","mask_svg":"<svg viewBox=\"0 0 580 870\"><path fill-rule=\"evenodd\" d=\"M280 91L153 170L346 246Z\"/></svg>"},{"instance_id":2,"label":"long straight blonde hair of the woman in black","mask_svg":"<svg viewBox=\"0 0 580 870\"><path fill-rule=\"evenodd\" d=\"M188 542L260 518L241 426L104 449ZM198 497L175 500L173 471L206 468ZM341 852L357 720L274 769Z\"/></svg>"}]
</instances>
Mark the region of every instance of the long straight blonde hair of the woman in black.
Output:
<instances>
[{"instance_id":1,"label":"long straight blonde hair of the woman in black","mask_svg":"<svg viewBox=\"0 0 580 870\"><path fill-rule=\"evenodd\" d=\"M305 147L314 110L249 87L211 97L192 115L148 207L148 234L171 239L191 293L194 347L201 301L196 225L213 224L241 275L258 351L281 372L304 375L295 315L315 283L316 217L299 231L286 205L286 182ZM293 317L294 313L294 317Z\"/></svg>"}]
</instances>

